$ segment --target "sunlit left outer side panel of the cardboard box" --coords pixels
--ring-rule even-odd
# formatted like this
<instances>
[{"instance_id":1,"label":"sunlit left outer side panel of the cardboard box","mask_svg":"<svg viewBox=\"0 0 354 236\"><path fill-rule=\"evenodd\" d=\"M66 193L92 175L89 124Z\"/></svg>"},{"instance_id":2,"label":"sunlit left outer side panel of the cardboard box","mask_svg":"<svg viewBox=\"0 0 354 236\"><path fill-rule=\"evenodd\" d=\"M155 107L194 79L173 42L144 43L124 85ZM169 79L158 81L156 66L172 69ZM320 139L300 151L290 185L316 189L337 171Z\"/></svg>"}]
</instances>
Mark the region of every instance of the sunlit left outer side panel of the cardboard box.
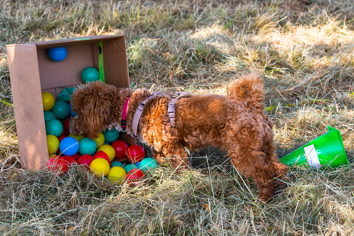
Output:
<instances>
[{"instance_id":1,"label":"sunlit left outer side panel of the cardboard box","mask_svg":"<svg viewBox=\"0 0 354 236\"><path fill-rule=\"evenodd\" d=\"M7 47L21 166L39 169L48 159L35 45Z\"/></svg>"}]
</instances>

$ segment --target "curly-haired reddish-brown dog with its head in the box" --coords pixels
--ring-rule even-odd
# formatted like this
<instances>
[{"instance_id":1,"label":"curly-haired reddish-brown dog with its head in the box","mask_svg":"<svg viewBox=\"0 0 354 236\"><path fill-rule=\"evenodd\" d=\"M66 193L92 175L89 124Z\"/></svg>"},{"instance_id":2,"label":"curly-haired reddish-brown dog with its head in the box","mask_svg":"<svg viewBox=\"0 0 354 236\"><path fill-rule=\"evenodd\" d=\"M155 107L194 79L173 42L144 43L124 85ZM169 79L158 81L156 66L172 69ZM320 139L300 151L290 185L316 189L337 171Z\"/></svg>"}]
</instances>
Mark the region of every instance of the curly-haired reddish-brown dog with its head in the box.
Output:
<instances>
[{"instance_id":1,"label":"curly-haired reddish-brown dog with its head in the box","mask_svg":"<svg viewBox=\"0 0 354 236\"><path fill-rule=\"evenodd\" d=\"M272 122L264 113L263 80L259 73L238 76L227 86L227 96L189 94L176 103L176 127L167 115L171 96L148 100L138 125L144 142L159 164L173 168L190 166L185 147L196 150L214 146L226 150L239 173L252 178L259 198L268 201L275 178L283 178L287 167L275 156ZM151 94L147 90L116 88L91 82L76 89L71 105L78 115L70 121L70 132L96 138L106 128L121 129L122 110L130 96L126 115L127 132L137 107Z\"/></svg>"}]
</instances>

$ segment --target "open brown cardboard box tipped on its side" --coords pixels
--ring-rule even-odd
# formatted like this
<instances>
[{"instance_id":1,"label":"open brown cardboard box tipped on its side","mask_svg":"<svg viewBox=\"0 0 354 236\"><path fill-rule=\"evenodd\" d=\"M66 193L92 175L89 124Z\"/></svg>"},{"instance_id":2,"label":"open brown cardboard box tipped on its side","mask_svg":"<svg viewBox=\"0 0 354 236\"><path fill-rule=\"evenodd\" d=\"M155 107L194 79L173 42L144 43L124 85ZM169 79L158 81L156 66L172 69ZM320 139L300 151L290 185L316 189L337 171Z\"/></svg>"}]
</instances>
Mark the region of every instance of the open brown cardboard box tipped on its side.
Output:
<instances>
[{"instance_id":1,"label":"open brown cardboard box tipped on its side","mask_svg":"<svg viewBox=\"0 0 354 236\"><path fill-rule=\"evenodd\" d=\"M41 92L57 99L66 87L82 84L81 71L98 69L99 42L102 41L105 83L129 87L129 73L123 35L89 36L27 44L6 45L21 166L46 167L48 149ZM52 61L49 48L66 47L67 57ZM120 132L128 145L135 139Z\"/></svg>"}]
</instances>

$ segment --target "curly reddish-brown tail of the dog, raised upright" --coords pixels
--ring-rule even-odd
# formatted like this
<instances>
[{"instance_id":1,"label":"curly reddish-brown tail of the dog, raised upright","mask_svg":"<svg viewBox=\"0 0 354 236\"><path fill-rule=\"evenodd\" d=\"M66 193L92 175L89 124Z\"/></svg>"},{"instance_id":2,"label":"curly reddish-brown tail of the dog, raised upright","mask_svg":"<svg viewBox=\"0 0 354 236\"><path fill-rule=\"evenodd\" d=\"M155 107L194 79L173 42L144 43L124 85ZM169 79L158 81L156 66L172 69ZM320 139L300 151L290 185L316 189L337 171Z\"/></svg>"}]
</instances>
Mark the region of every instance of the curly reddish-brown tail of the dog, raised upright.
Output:
<instances>
[{"instance_id":1,"label":"curly reddish-brown tail of the dog, raised upright","mask_svg":"<svg viewBox=\"0 0 354 236\"><path fill-rule=\"evenodd\" d=\"M247 104L264 107L263 79L258 72L237 75L227 87L227 96L232 99L244 100Z\"/></svg>"}]
</instances>

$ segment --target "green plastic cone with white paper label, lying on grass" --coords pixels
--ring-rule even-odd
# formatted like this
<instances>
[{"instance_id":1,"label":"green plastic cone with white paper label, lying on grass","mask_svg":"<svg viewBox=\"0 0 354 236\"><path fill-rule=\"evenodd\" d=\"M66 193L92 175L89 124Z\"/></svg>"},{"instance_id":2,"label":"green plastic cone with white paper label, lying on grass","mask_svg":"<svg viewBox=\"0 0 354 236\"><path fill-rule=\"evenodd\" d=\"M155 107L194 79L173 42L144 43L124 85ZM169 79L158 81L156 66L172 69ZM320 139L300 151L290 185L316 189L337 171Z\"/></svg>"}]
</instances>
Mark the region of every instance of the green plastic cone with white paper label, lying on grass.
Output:
<instances>
[{"instance_id":1,"label":"green plastic cone with white paper label, lying on grass","mask_svg":"<svg viewBox=\"0 0 354 236\"><path fill-rule=\"evenodd\" d=\"M288 166L310 165L314 167L349 165L341 133L327 126L328 132L282 157Z\"/></svg>"}]
</instances>

